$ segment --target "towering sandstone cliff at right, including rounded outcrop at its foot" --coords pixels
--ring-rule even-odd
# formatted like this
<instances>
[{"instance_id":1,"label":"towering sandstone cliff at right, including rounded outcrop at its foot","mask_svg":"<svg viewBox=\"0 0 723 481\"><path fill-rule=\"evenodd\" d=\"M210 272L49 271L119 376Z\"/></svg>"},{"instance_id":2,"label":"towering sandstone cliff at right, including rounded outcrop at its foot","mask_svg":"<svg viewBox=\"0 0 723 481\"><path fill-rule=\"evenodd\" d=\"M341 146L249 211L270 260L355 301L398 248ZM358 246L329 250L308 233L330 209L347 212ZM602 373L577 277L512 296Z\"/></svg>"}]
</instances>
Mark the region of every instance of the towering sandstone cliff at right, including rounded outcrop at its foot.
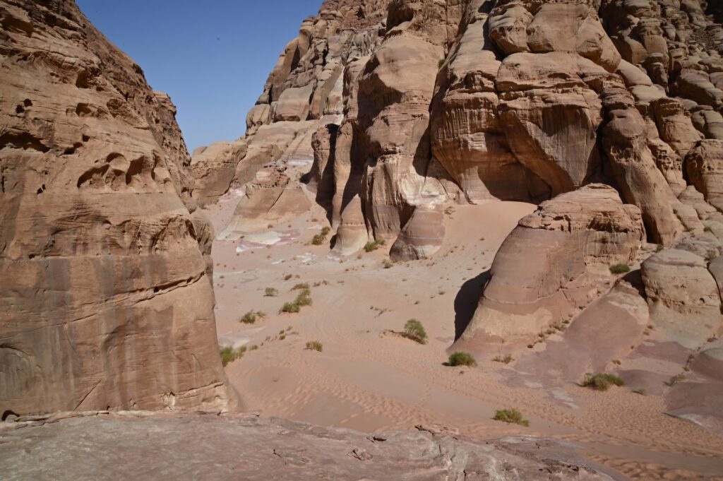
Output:
<instances>
[{"instance_id":1,"label":"towering sandstone cliff at right, including rounded outcrop at its foot","mask_svg":"<svg viewBox=\"0 0 723 481\"><path fill-rule=\"evenodd\" d=\"M719 13L703 0L325 1L271 72L247 134L211 147L223 156L194 156L224 179L194 197L218 198L262 166L234 238L308 190L333 250L383 239L393 260L434 254L450 202L542 203L502 246L456 346L534 344L604 297L615 263L636 270L675 249L707 267L722 251ZM245 157L215 169L239 145ZM294 161L312 156L297 180ZM249 197L257 187L276 189L271 202ZM651 276L664 269L644 267L655 274L639 291L662 312L673 301L654 300ZM718 336L721 299L705 304Z\"/></svg>"}]
</instances>

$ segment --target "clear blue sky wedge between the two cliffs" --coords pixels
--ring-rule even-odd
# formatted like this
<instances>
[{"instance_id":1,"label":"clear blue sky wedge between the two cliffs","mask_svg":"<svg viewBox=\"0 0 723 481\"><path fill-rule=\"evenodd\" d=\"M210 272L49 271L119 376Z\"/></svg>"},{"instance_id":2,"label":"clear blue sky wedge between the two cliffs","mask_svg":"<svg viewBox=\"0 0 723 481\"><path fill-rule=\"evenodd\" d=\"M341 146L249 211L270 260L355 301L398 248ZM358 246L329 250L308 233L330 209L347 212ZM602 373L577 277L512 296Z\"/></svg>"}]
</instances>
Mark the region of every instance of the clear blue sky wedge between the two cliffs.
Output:
<instances>
[{"instance_id":1,"label":"clear blue sky wedge between the two cliffs","mask_svg":"<svg viewBox=\"0 0 723 481\"><path fill-rule=\"evenodd\" d=\"M91 22L171 95L189 151L244 134L286 43L322 0L77 0Z\"/></svg>"}]
</instances>

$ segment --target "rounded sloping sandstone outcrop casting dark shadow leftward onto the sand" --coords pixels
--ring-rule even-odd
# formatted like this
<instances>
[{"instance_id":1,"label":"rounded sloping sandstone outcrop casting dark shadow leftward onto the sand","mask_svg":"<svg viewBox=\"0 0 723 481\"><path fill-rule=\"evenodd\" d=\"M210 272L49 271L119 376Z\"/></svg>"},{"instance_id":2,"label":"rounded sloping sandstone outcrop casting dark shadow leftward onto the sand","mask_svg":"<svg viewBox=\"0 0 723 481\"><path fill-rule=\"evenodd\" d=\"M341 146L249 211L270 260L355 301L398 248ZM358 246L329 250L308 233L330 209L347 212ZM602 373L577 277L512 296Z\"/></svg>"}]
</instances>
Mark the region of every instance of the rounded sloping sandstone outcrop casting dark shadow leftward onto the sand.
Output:
<instances>
[{"instance_id":1,"label":"rounded sloping sandstone outcrop casting dark shadow leftward onto the sand","mask_svg":"<svg viewBox=\"0 0 723 481\"><path fill-rule=\"evenodd\" d=\"M608 266L630 263L643 240L640 209L611 187L591 184L542 203L500 247L459 349L527 344L588 305L609 281Z\"/></svg>"}]
</instances>

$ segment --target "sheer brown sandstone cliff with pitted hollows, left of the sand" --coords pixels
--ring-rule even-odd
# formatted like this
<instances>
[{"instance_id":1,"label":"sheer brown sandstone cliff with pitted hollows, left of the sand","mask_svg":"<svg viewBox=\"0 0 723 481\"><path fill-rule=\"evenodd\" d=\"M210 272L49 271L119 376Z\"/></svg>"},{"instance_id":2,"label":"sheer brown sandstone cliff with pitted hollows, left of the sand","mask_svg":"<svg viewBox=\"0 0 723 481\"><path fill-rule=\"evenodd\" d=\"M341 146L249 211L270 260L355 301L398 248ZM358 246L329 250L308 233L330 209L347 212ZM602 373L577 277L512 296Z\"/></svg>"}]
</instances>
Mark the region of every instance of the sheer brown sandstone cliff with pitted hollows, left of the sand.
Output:
<instances>
[{"instance_id":1,"label":"sheer brown sandstone cliff with pitted hollows, left of the sand","mask_svg":"<svg viewBox=\"0 0 723 481\"><path fill-rule=\"evenodd\" d=\"M0 17L0 412L223 409L175 107L72 2Z\"/></svg>"}]
</instances>

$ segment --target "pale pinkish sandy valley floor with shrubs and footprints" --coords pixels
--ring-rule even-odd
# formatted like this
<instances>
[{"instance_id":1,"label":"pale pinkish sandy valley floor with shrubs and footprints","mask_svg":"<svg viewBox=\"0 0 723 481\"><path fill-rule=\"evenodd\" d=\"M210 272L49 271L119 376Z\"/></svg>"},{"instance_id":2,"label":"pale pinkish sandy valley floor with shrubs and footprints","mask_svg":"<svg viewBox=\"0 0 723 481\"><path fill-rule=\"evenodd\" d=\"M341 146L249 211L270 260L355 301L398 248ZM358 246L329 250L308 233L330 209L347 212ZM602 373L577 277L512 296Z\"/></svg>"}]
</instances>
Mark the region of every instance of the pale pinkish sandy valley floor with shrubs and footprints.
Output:
<instances>
[{"instance_id":1,"label":"pale pinkish sandy valley floor with shrubs and footprints","mask_svg":"<svg viewBox=\"0 0 723 481\"><path fill-rule=\"evenodd\" d=\"M206 209L217 233L237 201L229 195ZM478 358L474 369L443 365L455 331L474 312L497 248L532 210L523 203L455 205L446 215L448 240L437 254L390 268L383 265L385 249L339 259L328 245L310 244L327 225L318 206L276 227L286 241L271 247L236 252L252 244L217 240L219 341L258 346L226 367L247 409L366 432L439 424L484 437L552 436L635 479L723 480L723 438L664 414L658 396L575 384L552 391L529 383L513 388L504 380L514 362ZM313 305L279 313L299 283L311 287ZM278 289L278 296L265 297L266 287ZM249 310L265 318L240 323ZM427 345L390 332L401 331L410 318L424 324ZM304 349L307 341L320 341L323 351ZM491 419L505 407L520 409L530 427Z\"/></svg>"}]
</instances>

